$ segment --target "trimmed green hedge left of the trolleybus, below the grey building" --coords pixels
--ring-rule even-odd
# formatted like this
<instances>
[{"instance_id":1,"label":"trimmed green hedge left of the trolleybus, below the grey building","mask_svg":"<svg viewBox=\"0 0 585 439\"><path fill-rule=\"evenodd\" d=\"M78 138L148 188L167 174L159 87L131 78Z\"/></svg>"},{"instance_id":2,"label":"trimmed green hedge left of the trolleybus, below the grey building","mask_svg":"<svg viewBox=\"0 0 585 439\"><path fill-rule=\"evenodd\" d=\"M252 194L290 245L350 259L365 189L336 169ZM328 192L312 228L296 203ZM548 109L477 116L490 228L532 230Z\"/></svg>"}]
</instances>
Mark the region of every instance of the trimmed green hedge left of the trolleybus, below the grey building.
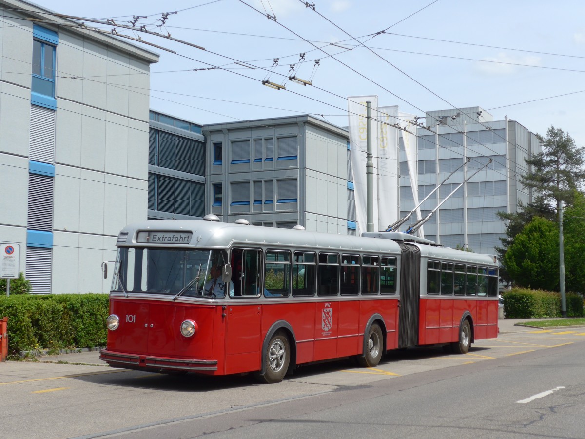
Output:
<instances>
[{"instance_id":1,"label":"trimmed green hedge left of the trolleybus, below the grey building","mask_svg":"<svg viewBox=\"0 0 585 439\"><path fill-rule=\"evenodd\" d=\"M105 346L108 294L0 296L8 317L8 354Z\"/></svg>"}]
</instances>

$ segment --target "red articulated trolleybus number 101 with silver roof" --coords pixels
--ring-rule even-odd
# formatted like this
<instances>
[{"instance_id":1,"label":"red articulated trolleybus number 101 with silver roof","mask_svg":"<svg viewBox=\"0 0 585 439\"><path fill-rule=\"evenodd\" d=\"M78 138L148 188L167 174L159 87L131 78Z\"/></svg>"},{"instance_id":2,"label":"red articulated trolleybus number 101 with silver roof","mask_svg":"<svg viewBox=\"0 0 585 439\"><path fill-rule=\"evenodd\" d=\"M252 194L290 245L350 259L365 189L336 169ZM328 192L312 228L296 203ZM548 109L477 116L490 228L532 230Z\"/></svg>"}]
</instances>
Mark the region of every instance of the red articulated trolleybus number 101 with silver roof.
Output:
<instances>
[{"instance_id":1,"label":"red articulated trolleybus number 101 with silver roof","mask_svg":"<svg viewBox=\"0 0 585 439\"><path fill-rule=\"evenodd\" d=\"M494 256L400 232L148 221L118 236L111 366L279 382L300 365L498 334ZM298 227L298 226L297 226Z\"/></svg>"}]
</instances>

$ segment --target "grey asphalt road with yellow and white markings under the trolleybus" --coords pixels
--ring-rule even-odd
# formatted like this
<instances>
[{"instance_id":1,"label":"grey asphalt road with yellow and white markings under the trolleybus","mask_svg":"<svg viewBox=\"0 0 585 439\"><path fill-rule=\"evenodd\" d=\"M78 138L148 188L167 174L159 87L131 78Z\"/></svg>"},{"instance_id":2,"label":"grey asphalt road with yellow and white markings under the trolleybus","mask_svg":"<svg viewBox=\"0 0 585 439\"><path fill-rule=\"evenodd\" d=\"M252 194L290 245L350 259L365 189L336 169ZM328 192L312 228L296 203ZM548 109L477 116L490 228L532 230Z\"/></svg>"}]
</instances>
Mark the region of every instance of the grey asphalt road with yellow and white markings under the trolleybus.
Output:
<instances>
[{"instance_id":1,"label":"grey asphalt road with yellow and white markings under the trolleybus","mask_svg":"<svg viewBox=\"0 0 585 439\"><path fill-rule=\"evenodd\" d=\"M479 341L467 355L407 349L377 368L307 366L277 385L7 362L0 437L582 438L583 342L584 328L522 330Z\"/></svg>"}]
</instances>

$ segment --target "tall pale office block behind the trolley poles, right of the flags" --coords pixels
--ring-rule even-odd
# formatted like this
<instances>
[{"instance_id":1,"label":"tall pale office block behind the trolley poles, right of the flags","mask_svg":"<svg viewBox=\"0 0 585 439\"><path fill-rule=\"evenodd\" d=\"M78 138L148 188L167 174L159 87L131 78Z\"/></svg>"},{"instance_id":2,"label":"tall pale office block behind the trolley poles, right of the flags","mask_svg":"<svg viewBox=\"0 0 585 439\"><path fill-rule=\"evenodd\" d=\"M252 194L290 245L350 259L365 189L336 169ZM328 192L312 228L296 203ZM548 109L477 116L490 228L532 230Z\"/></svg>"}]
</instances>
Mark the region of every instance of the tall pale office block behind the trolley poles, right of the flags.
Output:
<instances>
[{"instance_id":1,"label":"tall pale office block behind the trolley poles, right of the flags","mask_svg":"<svg viewBox=\"0 0 585 439\"><path fill-rule=\"evenodd\" d=\"M501 245L498 238L505 236L505 224L495 213L515 212L519 201L524 205L532 201L532 194L521 186L519 177L528 170L524 159L541 151L538 138L516 121L494 121L480 107L427 112L426 126L437 134L418 128L419 200L467 157L471 160L425 201L421 206L423 217L490 158L493 162L442 204L424 225L425 238L449 247L495 254L494 247ZM405 160L401 150L401 216L417 204L412 200Z\"/></svg>"}]
</instances>

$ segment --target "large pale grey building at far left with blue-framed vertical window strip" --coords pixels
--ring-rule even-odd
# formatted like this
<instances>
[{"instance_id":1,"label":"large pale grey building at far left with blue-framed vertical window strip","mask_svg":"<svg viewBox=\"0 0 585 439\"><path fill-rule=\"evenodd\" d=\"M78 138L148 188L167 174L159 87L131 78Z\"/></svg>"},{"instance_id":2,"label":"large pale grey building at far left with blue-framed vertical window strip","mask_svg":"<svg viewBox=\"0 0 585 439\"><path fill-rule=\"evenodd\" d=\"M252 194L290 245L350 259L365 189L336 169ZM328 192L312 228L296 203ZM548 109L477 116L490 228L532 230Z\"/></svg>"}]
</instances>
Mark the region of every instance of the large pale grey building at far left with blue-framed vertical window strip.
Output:
<instances>
[{"instance_id":1,"label":"large pale grey building at far left with blue-framed vertical window strip","mask_svg":"<svg viewBox=\"0 0 585 439\"><path fill-rule=\"evenodd\" d=\"M33 293L108 291L101 263L146 218L159 57L27 2L0 8L0 242L20 245Z\"/></svg>"}]
</instances>

